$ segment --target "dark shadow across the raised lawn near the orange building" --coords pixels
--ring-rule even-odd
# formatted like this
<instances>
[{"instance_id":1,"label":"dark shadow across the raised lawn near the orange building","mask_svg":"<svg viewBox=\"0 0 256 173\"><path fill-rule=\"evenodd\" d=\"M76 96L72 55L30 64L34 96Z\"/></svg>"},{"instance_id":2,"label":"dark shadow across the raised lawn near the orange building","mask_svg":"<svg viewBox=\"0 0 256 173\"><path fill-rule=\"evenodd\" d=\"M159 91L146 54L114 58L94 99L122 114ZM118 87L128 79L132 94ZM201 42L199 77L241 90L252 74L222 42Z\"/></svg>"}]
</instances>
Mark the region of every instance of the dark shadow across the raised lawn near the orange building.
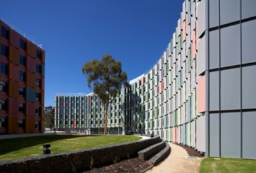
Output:
<instances>
[{"instance_id":1,"label":"dark shadow across the raised lawn near the orange building","mask_svg":"<svg viewBox=\"0 0 256 173\"><path fill-rule=\"evenodd\" d=\"M22 137L14 139L0 140L0 155L17 151L26 147L36 146L39 144L51 143L56 140L73 139L77 137L84 137L78 135L47 135L39 137Z\"/></svg>"}]
</instances>

